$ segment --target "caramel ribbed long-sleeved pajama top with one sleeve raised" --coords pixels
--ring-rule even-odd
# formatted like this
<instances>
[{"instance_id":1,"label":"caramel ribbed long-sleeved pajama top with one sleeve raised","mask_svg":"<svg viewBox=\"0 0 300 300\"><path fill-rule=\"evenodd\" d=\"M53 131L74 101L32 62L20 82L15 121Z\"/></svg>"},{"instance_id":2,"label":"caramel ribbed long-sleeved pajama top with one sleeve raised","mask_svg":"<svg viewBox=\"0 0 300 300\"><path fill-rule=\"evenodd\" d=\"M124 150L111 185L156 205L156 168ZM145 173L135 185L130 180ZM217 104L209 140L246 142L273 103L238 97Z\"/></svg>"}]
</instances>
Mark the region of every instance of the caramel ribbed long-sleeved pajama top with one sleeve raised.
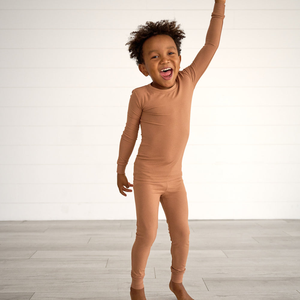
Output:
<instances>
[{"instance_id":1,"label":"caramel ribbed long-sleeved pajama top with one sleeve raised","mask_svg":"<svg viewBox=\"0 0 300 300\"><path fill-rule=\"evenodd\" d=\"M179 71L173 87L161 90L148 84L132 91L117 173L125 173L141 126L142 141L134 162L134 179L164 182L182 176L193 90L219 45L224 10L224 4L214 4L205 45L192 64Z\"/></svg>"}]
</instances>

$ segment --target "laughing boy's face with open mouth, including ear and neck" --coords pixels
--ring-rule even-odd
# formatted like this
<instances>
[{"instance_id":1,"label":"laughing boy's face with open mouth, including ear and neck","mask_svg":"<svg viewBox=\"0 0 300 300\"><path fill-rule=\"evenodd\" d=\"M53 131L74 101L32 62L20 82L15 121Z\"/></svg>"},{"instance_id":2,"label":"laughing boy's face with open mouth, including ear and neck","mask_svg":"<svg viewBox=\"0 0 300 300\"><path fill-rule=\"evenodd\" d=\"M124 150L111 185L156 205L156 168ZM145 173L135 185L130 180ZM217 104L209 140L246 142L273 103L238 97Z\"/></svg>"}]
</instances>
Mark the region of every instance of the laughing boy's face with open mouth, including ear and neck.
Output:
<instances>
[{"instance_id":1,"label":"laughing boy's face with open mouth, including ear and neck","mask_svg":"<svg viewBox=\"0 0 300 300\"><path fill-rule=\"evenodd\" d=\"M139 64L139 70L145 76L150 75L153 87L167 89L175 85L181 55L178 55L173 38L155 35L147 39L143 44L143 58L144 63Z\"/></svg>"}]
</instances>

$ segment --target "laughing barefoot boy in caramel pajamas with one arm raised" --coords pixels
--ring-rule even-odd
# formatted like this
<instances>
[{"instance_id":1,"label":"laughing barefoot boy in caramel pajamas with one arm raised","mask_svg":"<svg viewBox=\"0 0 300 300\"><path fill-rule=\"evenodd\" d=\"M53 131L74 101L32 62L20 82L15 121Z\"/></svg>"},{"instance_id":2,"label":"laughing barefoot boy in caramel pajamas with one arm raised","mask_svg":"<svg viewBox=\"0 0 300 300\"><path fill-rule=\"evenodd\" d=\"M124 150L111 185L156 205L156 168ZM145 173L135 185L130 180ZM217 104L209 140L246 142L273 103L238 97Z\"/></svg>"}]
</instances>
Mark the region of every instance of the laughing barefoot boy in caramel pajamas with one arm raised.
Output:
<instances>
[{"instance_id":1,"label":"laughing barefoot boy in caramel pajamas with one arm raised","mask_svg":"<svg viewBox=\"0 0 300 300\"><path fill-rule=\"evenodd\" d=\"M215 0L206 42L192 64L179 71L184 32L176 22L146 22L131 32L129 52L152 83L136 88L128 106L117 167L120 193L131 192L137 212L137 233L131 253L131 299L145 300L143 278L158 228L158 206L166 214L171 237L169 287L178 300L192 300L182 285L189 248L187 196L182 181L182 157L189 136L193 90L220 41L225 0ZM134 162L134 182L125 167L134 149L139 127L142 141Z\"/></svg>"}]
</instances>

